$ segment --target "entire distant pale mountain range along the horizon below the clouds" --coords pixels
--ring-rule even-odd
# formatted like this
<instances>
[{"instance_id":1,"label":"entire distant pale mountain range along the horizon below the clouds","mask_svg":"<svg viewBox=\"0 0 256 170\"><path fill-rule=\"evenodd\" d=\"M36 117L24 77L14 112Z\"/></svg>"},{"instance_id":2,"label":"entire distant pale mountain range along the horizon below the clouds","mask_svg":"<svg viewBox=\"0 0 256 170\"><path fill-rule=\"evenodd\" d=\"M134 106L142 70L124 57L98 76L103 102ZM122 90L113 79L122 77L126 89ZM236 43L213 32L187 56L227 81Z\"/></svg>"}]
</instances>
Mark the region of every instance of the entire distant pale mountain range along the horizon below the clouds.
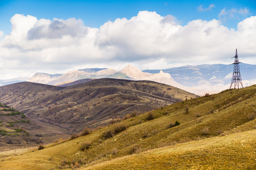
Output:
<instances>
[{"instance_id":1,"label":"entire distant pale mountain range along the horizon below the clouds","mask_svg":"<svg viewBox=\"0 0 256 170\"><path fill-rule=\"evenodd\" d=\"M240 63L240 70L244 87L256 84L256 75L253 74L256 72L256 65ZM28 82L55 86L68 86L68 84L74 84L76 80L82 79L87 79L87 81L100 78L152 80L202 96L205 93L215 94L228 89L230 87L232 73L233 65L223 64L188 65L164 70L143 71L131 65L127 65L120 71L106 68L94 68L69 71L65 74L35 73L30 79L0 80L0 84L6 85L27 80Z\"/></svg>"}]
</instances>

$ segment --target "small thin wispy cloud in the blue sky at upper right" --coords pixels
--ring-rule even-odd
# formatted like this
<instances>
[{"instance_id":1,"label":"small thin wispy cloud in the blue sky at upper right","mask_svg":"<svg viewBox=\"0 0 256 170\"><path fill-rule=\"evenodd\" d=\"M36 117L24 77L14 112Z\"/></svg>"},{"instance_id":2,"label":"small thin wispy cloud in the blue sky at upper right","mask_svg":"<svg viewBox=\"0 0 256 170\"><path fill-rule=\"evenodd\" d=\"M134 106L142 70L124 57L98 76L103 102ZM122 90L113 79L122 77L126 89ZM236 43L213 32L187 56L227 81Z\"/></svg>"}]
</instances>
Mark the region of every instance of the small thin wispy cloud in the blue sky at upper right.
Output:
<instances>
[{"instance_id":1,"label":"small thin wispy cloud in the blue sky at upper right","mask_svg":"<svg viewBox=\"0 0 256 170\"><path fill-rule=\"evenodd\" d=\"M238 19L241 20L241 18L246 18L247 14L249 14L249 10L247 8L243 8L240 10L237 10L237 8L232 8L231 10L226 10L226 7L223 8L218 14L218 18L221 20L221 22L226 22L230 19Z\"/></svg>"}]
</instances>

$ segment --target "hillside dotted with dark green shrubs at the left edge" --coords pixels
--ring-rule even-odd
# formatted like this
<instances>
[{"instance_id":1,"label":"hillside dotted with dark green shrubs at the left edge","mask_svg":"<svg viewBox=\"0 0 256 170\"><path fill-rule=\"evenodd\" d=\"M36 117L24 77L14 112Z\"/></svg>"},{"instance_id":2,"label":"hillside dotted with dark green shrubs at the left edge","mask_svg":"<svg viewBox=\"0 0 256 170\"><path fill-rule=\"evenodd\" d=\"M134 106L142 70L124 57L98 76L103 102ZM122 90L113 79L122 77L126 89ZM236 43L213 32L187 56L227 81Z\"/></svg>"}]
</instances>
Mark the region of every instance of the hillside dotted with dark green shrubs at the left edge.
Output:
<instances>
[{"instance_id":1,"label":"hillside dotted with dark green shrubs at the left edge","mask_svg":"<svg viewBox=\"0 0 256 170\"><path fill-rule=\"evenodd\" d=\"M0 151L37 146L42 141L29 133L36 128L23 113L0 103Z\"/></svg>"}]
</instances>

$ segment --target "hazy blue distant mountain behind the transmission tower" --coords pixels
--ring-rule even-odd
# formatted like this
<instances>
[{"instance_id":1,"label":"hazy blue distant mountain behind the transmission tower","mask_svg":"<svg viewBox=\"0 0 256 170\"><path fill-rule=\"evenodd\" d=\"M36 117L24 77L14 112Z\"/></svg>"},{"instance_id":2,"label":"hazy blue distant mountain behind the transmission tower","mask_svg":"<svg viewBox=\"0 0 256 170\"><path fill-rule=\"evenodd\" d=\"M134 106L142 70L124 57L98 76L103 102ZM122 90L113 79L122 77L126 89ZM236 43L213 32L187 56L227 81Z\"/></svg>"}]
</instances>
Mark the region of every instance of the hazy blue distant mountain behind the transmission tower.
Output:
<instances>
[{"instance_id":1,"label":"hazy blue distant mountain behind the transmission tower","mask_svg":"<svg viewBox=\"0 0 256 170\"><path fill-rule=\"evenodd\" d=\"M230 86L233 65L197 65L174 67L163 70L172 76L175 82L187 87L202 90L222 91ZM160 70L143 70L146 73L158 73ZM243 86L256 84L256 65L240 63Z\"/></svg>"}]
</instances>

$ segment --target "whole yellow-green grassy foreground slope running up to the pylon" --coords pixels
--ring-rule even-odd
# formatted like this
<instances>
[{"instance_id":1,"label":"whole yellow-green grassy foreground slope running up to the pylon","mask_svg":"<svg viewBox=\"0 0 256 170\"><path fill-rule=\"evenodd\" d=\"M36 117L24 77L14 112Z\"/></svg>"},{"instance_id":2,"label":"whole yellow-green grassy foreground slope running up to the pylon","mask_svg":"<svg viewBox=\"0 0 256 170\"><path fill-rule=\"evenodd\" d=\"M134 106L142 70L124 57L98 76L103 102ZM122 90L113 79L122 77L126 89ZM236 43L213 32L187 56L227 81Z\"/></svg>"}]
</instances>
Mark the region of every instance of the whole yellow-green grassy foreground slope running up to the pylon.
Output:
<instances>
[{"instance_id":1,"label":"whole yellow-green grassy foreground slope running up to the pylon","mask_svg":"<svg viewBox=\"0 0 256 170\"><path fill-rule=\"evenodd\" d=\"M254 169L255 92L251 86L182 101L3 158L0 168Z\"/></svg>"}]
</instances>

